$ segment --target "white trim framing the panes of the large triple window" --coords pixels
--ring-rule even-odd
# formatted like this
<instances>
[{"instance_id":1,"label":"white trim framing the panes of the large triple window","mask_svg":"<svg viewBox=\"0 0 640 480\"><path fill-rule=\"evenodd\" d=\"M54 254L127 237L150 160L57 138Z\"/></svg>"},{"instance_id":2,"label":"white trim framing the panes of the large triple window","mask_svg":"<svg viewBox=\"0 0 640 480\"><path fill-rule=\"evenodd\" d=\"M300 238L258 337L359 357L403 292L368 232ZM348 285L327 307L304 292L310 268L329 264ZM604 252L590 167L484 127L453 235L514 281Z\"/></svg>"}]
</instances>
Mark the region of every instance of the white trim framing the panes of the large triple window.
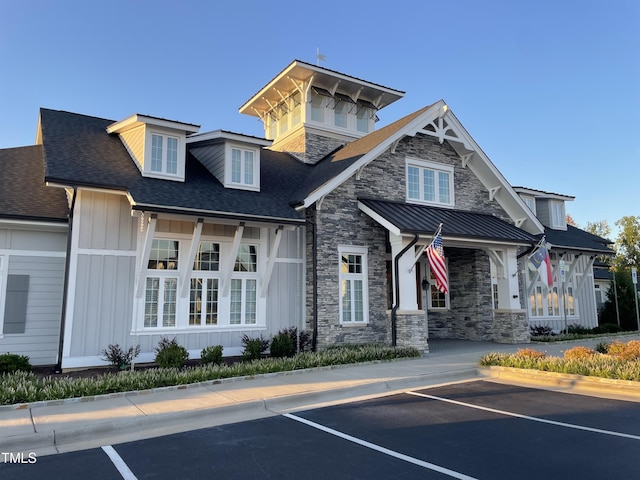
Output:
<instances>
[{"instance_id":1,"label":"white trim framing the panes of the large triple window","mask_svg":"<svg viewBox=\"0 0 640 480\"><path fill-rule=\"evenodd\" d=\"M231 259L230 251L233 244L233 239L230 237L216 237L202 235L200 242L214 242L220 244L220 266L218 271L209 270L192 270L191 274L185 279L189 282L189 288L186 289L185 296L182 294L182 272L184 268L187 268L188 252L191 245L191 236L179 233L169 232L156 232L154 240L174 240L178 241L178 270L155 270L145 267L144 278L142 281L145 284L145 289L137 305L135 307L134 327L132 334L134 335L157 335L157 334L177 334L177 333L193 333L193 332L218 332L218 331L238 331L238 330L264 330L266 328L266 299L259 294L260 282L266 271L266 235L261 233L260 239L247 238L242 240L242 245L254 245L257 248L258 264L256 272L235 272L232 271L232 275L229 281L233 279L255 279L256 280L256 323L244 323L245 305L243 292L243 318L239 324L230 323L231 315L231 291L227 296L222 295L222 283L224 281L223 272L229 266L229 262L233 262L230 268L233 270L235 264L235 258ZM158 274L160 272L160 274ZM144 326L144 314L145 314L145 299L146 299L146 282L149 277L177 277L178 279L178 292L176 300L176 326L175 327L163 327L162 319L159 318L158 325L156 327ZM189 301L191 298L190 283L193 278L217 278L218 279L218 323L216 325L189 325ZM246 282L243 282L245 285ZM160 309L159 309L160 310Z\"/></svg>"}]
</instances>

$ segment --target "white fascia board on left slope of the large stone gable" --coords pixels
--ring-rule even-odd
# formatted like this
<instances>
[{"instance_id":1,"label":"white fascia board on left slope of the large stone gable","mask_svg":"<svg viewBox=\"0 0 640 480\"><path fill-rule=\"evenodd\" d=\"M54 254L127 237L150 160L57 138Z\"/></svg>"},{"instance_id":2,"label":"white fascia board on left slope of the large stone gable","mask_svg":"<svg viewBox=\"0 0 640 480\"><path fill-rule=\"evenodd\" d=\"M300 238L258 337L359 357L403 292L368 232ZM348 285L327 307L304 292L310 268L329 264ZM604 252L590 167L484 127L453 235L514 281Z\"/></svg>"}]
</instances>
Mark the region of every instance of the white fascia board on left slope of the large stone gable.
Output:
<instances>
[{"instance_id":1,"label":"white fascia board on left slope of the large stone gable","mask_svg":"<svg viewBox=\"0 0 640 480\"><path fill-rule=\"evenodd\" d=\"M440 100L434 103L431 108L426 110L414 118L411 122L404 126L404 128L398 130L393 135L387 137L384 141L380 142L373 149L371 149L368 153L362 156L360 160L355 162L346 170L342 171L339 175L336 175L328 182L321 185L319 188L311 192L304 199L304 207L307 208L317 202L320 198L324 197L328 193L332 192L334 189L338 188L345 181L347 181L352 175L354 175L358 170L362 167L366 166L368 163L375 160L378 156L380 156L386 149L388 149L394 142L405 137L407 135L414 136L416 132L421 129L424 125L429 123L435 117L441 114L442 109L446 110L446 104Z\"/></svg>"}]
</instances>

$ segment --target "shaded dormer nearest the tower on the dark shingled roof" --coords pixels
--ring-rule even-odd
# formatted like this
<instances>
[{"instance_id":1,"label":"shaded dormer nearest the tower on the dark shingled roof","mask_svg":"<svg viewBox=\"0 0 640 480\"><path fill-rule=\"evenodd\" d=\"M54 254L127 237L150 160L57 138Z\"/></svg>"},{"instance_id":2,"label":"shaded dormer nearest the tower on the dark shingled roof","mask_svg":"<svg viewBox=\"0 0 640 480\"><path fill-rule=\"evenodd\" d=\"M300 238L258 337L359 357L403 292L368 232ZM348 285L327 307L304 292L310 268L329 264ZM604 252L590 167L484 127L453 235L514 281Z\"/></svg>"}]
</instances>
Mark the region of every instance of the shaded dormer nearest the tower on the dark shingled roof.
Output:
<instances>
[{"instance_id":1,"label":"shaded dormer nearest the tower on the dark shingled roof","mask_svg":"<svg viewBox=\"0 0 640 480\"><path fill-rule=\"evenodd\" d=\"M271 145L269 140L215 130L193 135L187 144L225 188L260 191L260 151Z\"/></svg>"}]
</instances>

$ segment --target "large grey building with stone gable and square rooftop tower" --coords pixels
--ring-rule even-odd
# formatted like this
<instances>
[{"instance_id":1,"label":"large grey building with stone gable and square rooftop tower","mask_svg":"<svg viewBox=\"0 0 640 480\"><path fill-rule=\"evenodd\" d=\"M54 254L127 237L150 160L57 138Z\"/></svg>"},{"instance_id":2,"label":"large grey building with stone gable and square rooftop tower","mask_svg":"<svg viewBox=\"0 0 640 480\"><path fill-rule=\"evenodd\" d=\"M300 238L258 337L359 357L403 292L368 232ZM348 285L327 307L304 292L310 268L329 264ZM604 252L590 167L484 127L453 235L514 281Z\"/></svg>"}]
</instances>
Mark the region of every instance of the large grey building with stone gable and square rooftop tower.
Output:
<instances>
[{"instance_id":1,"label":"large grey building with stone gable and square rooftop tower","mask_svg":"<svg viewBox=\"0 0 640 480\"><path fill-rule=\"evenodd\" d=\"M0 352L78 368L175 337L238 355L289 327L318 349L529 341L527 256L555 230L444 101L376 129L403 96L296 60L240 107L265 138L41 109L36 145L0 150ZM440 225L445 292L424 255Z\"/></svg>"}]
</instances>

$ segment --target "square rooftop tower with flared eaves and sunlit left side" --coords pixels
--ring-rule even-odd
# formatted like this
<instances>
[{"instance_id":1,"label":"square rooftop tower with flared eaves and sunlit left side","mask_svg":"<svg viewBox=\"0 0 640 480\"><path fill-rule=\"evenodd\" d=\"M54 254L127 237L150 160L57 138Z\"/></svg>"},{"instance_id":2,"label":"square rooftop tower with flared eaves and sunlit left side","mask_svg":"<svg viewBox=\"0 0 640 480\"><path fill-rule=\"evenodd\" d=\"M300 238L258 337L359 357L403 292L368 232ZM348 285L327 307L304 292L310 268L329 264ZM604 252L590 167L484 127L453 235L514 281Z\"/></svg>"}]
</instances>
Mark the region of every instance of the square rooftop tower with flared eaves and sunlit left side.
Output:
<instances>
[{"instance_id":1,"label":"square rooftop tower with flared eaves and sunlit left side","mask_svg":"<svg viewBox=\"0 0 640 480\"><path fill-rule=\"evenodd\" d=\"M375 129L377 112L404 92L299 60L240 107L262 120L273 150L316 163Z\"/></svg>"}]
</instances>

